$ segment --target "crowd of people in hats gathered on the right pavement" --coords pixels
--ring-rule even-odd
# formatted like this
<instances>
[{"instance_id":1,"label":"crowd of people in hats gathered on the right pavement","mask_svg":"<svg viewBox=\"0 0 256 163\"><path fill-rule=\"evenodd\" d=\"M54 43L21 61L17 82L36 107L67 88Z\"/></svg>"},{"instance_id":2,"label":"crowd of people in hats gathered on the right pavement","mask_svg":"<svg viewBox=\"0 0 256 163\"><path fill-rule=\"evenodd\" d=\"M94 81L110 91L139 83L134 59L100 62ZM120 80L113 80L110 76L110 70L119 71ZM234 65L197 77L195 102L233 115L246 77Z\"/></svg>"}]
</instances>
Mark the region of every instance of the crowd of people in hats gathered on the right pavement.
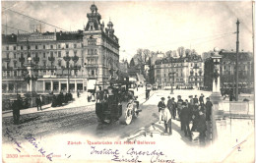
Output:
<instances>
[{"instance_id":1,"label":"crowd of people in hats gathered on the right pavement","mask_svg":"<svg viewBox=\"0 0 256 163\"><path fill-rule=\"evenodd\" d=\"M164 122L165 133L171 135L171 120L178 120L185 136L192 140L193 134L199 133L199 142L201 145L205 145L206 132L209 130L207 124L211 121L213 107L210 98L207 97L206 102L203 94L199 98L197 95L194 97L189 95L189 99L182 99L181 95L178 95L176 101L174 97L168 96L167 98L165 103L165 98L161 97L158 104L160 122ZM191 128L190 124L192 124Z\"/></svg>"}]
</instances>

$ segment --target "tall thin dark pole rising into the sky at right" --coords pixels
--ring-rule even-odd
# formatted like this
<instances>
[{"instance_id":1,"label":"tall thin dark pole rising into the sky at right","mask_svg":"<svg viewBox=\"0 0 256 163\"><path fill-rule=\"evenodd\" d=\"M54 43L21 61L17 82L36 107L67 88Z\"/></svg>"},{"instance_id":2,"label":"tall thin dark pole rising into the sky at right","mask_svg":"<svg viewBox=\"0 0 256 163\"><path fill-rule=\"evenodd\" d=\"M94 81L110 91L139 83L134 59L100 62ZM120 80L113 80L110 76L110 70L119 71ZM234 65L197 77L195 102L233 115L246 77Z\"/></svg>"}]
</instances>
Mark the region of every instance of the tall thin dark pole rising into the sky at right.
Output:
<instances>
[{"instance_id":1,"label":"tall thin dark pole rising into the sky at right","mask_svg":"<svg viewBox=\"0 0 256 163\"><path fill-rule=\"evenodd\" d=\"M239 20L237 19L236 22L236 62L235 62L235 74L236 74L236 79L235 79L235 101L238 101L238 53L239 53Z\"/></svg>"}]
</instances>

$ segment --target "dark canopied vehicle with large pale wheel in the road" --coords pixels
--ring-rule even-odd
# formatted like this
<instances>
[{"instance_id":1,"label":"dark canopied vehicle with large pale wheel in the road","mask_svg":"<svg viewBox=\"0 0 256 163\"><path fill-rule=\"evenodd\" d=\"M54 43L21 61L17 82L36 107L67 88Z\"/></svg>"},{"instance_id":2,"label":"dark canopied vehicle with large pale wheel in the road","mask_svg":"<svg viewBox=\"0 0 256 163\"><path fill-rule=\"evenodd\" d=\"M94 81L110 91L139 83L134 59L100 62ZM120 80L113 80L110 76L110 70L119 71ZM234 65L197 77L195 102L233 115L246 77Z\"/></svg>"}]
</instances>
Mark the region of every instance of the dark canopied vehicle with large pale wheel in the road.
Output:
<instances>
[{"instance_id":1,"label":"dark canopied vehicle with large pale wheel in the road","mask_svg":"<svg viewBox=\"0 0 256 163\"><path fill-rule=\"evenodd\" d=\"M109 84L110 83L110 84ZM107 89L96 92L96 116L103 124L111 124L119 121L121 124L129 125L132 120L139 116L142 111L138 96L129 90L129 81L111 81L98 86L109 85Z\"/></svg>"}]
</instances>

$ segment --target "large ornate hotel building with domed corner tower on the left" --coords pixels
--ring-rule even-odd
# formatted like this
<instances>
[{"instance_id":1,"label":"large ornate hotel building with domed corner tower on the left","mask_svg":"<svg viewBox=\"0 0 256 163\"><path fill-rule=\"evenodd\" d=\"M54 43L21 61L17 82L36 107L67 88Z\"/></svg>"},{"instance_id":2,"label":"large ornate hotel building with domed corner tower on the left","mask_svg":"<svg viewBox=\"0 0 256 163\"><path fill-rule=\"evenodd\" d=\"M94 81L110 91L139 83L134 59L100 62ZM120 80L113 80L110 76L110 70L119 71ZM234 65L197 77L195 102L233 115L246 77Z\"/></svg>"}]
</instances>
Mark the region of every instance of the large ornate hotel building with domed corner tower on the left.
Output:
<instances>
[{"instance_id":1,"label":"large ornate hotel building with domed corner tower on the left","mask_svg":"<svg viewBox=\"0 0 256 163\"><path fill-rule=\"evenodd\" d=\"M111 22L100 23L96 5L90 9L84 30L2 35L3 93L27 91L29 58L38 93L85 91L108 80L119 66L118 38Z\"/></svg>"}]
</instances>

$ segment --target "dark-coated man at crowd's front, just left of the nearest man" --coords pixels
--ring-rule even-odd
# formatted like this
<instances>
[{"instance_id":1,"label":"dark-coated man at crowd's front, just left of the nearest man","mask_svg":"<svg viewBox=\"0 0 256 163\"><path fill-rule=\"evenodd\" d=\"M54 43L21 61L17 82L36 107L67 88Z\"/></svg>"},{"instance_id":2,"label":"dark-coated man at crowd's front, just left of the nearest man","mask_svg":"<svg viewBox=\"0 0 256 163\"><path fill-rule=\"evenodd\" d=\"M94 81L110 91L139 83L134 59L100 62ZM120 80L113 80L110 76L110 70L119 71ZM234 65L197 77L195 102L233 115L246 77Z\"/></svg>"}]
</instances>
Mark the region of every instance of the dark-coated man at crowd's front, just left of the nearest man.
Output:
<instances>
[{"instance_id":1,"label":"dark-coated man at crowd's front, just left of the nearest man","mask_svg":"<svg viewBox=\"0 0 256 163\"><path fill-rule=\"evenodd\" d=\"M180 116L181 116L181 122L182 122L182 124L184 124L185 136L189 136L189 138L191 140L191 132L190 132L190 129L189 129L189 122L190 122L190 118L191 118L191 112L187 108L186 102L182 102L182 110L181 110Z\"/></svg>"}]
</instances>

